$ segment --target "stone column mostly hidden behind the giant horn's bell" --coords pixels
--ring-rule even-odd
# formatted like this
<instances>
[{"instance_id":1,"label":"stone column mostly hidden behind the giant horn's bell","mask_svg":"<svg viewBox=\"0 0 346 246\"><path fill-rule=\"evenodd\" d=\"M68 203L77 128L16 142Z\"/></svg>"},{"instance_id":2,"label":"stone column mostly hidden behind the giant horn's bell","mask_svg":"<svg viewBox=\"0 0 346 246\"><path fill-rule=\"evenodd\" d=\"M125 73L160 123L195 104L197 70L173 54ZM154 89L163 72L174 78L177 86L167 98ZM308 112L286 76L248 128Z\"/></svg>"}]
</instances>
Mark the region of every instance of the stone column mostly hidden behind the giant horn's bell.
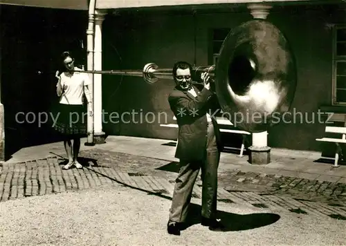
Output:
<instances>
[{"instance_id":1,"label":"stone column mostly hidden behind the giant horn's bell","mask_svg":"<svg viewBox=\"0 0 346 246\"><path fill-rule=\"evenodd\" d=\"M261 3L248 4L254 19L266 19L271 6ZM253 145L248 147L251 164L268 164L271 162L271 147L267 146L268 132L252 133Z\"/></svg>"}]
</instances>

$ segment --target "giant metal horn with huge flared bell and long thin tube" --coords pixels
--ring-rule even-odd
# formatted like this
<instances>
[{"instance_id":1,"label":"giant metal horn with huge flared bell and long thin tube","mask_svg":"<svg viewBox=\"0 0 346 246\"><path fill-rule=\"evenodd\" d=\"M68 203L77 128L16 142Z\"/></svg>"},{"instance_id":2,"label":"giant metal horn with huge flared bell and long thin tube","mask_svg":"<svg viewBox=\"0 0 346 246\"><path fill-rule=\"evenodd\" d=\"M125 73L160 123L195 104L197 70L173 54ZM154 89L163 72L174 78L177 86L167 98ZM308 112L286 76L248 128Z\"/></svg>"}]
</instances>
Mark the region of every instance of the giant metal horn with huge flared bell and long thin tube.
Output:
<instances>
[{"instance_id":1,"label":"giant metal horn with huge flared bell and long thin tube","mask_svg":"<svg viewBox=\"0 0 346 246\"><path fill-rule=\"evenodd\" d=\"M286 38L266 20L254 19L228 33L217 64L195 66L192 80L208 72L224 116L239 129L267 131L273 121L289 111L295 94L295 60ZM146 64L143 70L86 70L82 73L143 77L153 84L158 79L173 79L172 68ZM195 82L196 83L196 82ZM198 83L197 83L198 84Z\"/></svg>"}]
</instances>

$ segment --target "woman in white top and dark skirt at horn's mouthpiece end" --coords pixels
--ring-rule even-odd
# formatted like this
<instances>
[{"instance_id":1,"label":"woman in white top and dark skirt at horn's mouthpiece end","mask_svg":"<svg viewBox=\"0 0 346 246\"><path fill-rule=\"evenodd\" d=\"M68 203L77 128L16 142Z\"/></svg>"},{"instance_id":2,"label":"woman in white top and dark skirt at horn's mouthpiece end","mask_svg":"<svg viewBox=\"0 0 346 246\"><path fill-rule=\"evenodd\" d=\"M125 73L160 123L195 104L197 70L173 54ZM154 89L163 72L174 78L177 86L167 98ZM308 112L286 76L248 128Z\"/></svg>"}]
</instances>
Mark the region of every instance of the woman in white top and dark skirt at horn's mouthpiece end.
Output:
<instances>
[{"instance_id":1,"label":"woman in white top and dark skirt at horn's mouthpiece end","mask_svg":"<svg viewBox=\"0 0 346 246\"><path fill-rule=\"evenodd\" d=\"M83 106L83 95L85 95L89 114L92 115L91 94L89 92L89 77L86 73L78 73L80 68L74 66L74 59L69 52L62 54L63 64L66 68L64 73L57 71L57 96L60 102L57 111L57 123L55 130L64 135L64 146L69 162L63 169L70 169L73 165L82 169L78 162L80 151L80 138L86 135L86 120ZM73 140L73 146L71 144ZM73 147L73 148L72 148Z\"/></svg>"}]
</instances>

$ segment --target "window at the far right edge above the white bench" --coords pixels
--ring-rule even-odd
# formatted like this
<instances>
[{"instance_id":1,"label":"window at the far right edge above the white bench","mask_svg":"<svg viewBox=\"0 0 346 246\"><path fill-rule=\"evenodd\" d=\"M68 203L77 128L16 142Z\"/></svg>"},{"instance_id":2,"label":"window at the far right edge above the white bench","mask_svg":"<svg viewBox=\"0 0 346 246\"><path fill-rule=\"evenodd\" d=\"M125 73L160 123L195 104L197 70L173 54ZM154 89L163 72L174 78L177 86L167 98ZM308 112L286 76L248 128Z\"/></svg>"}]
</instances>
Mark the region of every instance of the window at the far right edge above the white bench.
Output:
<instances>
[{"instance_id":1,"label":"window at the far right edge above the white bench","mask_svg":"<svg viewBox=\"0 0 346 246\"><path fill-rule=\"evenodd\" d=\"M333 105L346 106L346 26L334 26Z\"/></svg>"}]
</instances>

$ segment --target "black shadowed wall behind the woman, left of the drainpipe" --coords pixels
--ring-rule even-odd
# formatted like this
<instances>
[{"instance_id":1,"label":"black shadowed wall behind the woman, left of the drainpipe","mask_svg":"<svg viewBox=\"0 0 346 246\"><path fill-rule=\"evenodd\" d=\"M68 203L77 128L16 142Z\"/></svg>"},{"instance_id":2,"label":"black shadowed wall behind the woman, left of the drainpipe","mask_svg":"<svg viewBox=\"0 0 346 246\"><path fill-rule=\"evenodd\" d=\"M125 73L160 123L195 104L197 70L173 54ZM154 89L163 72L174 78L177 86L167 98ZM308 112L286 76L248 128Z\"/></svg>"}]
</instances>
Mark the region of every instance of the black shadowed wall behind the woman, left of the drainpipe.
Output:
<instances>
[{"instance_id":1,"label":"black shadowed wall behind the woman, left of the drainpipe","mask_svg":"<svg viewBox=\"0 0 346 246\"><path fill-rule=\"evenodd\" d=\"M70 50L85 64L80 42L86 46L87 20L87 12L80 10L1 6L1 101L8 157L21 147L58 139L52 122L38 124L38 117L41 113L45 122L42 113L58 102L54 75L62 51Z\"/></svg>"}]
</instances>

